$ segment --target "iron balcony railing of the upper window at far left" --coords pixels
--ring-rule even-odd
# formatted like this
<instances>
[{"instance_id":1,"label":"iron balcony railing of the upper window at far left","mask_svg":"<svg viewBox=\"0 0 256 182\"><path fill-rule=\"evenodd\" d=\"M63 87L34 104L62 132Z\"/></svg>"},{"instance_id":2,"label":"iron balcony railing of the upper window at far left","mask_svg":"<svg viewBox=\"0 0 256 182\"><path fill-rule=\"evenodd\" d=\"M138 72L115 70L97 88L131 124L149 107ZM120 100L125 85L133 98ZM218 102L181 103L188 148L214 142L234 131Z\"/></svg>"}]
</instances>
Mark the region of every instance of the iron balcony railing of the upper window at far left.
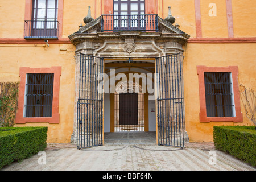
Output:
<instances>
[{"instance_id":1,"label":"iron balcony railing of the upper window at far left","mask_svg":"<svg viewBox=\"0 0 256 182\"><path fill-rule=\"evenodd\" d=\"M57 39L59 34L58 21L25 20L25 39Z\"/></svg>"}]
</instances>

